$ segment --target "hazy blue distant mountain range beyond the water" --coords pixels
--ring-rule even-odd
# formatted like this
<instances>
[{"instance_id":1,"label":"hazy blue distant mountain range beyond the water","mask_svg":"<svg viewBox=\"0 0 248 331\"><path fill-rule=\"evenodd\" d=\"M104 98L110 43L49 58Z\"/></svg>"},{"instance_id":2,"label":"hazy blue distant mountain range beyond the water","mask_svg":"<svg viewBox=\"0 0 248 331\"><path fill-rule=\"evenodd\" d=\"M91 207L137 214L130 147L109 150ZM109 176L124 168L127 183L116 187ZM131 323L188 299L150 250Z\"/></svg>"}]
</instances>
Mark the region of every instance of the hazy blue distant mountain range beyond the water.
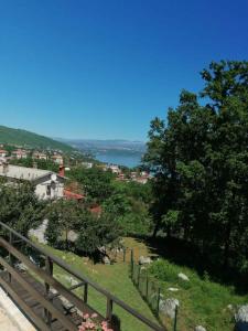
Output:
<instances>
[{"instance_id":1,"label":"hazy blue distant mountain range beyond the water","mask_svg":"<svg viewBox=\"0 0 248 331\"><path fill-rule=\"evenodd\" d=\"M110 152L119 151L127 153L144 153L145 143L142 141L129 140L97 140L97 139L63 139L56 138L60 141L66 142L74 148L87 152Z\"/></svg>"}]
</instances>

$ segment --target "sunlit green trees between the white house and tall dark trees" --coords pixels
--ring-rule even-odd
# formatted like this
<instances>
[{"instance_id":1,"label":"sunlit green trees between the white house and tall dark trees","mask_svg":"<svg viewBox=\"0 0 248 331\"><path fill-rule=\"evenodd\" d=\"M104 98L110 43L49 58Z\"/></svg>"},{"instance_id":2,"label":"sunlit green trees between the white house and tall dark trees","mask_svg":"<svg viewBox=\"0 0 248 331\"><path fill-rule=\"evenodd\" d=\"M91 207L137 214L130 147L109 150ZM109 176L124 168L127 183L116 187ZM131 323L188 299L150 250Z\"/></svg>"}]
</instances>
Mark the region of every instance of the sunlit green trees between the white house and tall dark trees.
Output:
<instances>
[{"instance_id":1,"label":"sunlit green trees between the white house and tall dark trees","mask_svg":"<svg viewBox=\"0 0 248 331\"><path fill-rule=\"evenodd\" d=\"M118 182L110 171L93 167L76 167L67 175L79 183L86 204L98 203L115 218L123 235L148 235L152 228L149 206L152 201L150 183Z\"/></svg>"}]
</instances>

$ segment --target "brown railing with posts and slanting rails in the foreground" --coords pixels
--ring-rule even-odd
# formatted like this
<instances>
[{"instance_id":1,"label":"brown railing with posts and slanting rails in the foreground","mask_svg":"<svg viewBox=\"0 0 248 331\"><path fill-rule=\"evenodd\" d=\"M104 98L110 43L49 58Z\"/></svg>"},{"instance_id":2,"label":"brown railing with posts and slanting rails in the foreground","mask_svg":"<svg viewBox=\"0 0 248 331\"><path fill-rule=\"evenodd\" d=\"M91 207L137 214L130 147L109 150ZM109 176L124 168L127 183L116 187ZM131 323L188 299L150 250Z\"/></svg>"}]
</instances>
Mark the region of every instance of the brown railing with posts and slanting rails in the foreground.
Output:
<instances>
[{"instance_id":1,"label":"brown railing with posts and slanting rails in the foreground","mask_svg":"<svg viewBox=\"0 0 248 331\"><path fill-rule=\"evenodd\" d=\"M0 277L0 285L6 289L6 291L17 301L20 308L26 313L30 320L40 329L40 330L51 330L51 324L54 320L58 320L67 330L77 330L78 325L72 322L72 319L68 319L62 311L60 311L54 305L54 298L62 296L67 299L73 307L76 307L83 313L93 313L96 312L98 314L98 321L107 320L114 330L120 330L120 323L116 323L116 318L114 314L114 306L118 306L129 314L134 317L137 320L141 321L144 325L148 327L148 330L155 331L164 331L165 328L161 327L147 317L142 316L130 306L125 303L122 300L118 299L116 296L111 295L109 291L105 290L98 284L83 276L80 273L68 266L58 257L47 253L44 248L31 242L23 235L19 234L13 228L9 227L4 223L0 222L0 228L4 233L3 236L0 236L0 246L3 247L9 256L8 260L3 257L0 257L0 265L8 271L8 281ZM9 238L9 241L6 239ZM18 238L18 239L17 239ZM29 257L26 257L23 253L20 252L15 244L20 244L26 247L31 247L39 256L44 258L45 266L41 268L36 264L34 264ZM17 271L13 265L13 260L20 260L23 263L29 274L30 271L35 274L42 281L44 282L44 295L37 291L32 285L22 276L21 273ZM60 282L56 278L54 278L53 269L54 265L61 267L67 274L76 277L78 279L78 284L74 285L71 288L66 288L62 282ZM11 282L17 280L44 309L44 319L39 318L33 310L22 300L17 292L14 292L11 287ZM76 296L73 290L76 288L83 287L84 293L83 298ZM51 293L50 289L55 289L56 293ZM103 316L98 313L94 307L90 307L88 303L88 290L89 288L94 288L98 293L106 298L106 314Z\"/></svg>"}]
</instances>

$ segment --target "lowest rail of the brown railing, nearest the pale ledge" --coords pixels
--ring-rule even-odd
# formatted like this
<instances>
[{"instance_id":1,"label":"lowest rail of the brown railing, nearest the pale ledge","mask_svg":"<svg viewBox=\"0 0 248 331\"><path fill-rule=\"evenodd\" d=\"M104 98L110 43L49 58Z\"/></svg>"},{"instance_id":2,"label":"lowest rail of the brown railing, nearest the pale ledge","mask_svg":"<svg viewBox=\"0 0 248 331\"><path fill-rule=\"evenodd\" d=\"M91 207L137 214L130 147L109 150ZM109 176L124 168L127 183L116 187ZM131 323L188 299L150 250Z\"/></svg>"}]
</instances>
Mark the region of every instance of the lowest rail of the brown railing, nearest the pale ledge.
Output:
<instances>
[{"instance_id":1,"label":"lowest rail of the brown railing, nearest the pale ledge","mask_svg":"<svg viewBox=\"0 0 248 331\"><path fill-rule=\"evenodd\" d=\"M20 298L20 296L12 289L12 287L0 277L0 285L4 288L4 290L10 295L10 297L20 306L23 313L32 321L35 327L37 327L42 331L51 331L50 328L45 324L45 322L30 308L24 300Z\"/></svg>"}]
</instances>

